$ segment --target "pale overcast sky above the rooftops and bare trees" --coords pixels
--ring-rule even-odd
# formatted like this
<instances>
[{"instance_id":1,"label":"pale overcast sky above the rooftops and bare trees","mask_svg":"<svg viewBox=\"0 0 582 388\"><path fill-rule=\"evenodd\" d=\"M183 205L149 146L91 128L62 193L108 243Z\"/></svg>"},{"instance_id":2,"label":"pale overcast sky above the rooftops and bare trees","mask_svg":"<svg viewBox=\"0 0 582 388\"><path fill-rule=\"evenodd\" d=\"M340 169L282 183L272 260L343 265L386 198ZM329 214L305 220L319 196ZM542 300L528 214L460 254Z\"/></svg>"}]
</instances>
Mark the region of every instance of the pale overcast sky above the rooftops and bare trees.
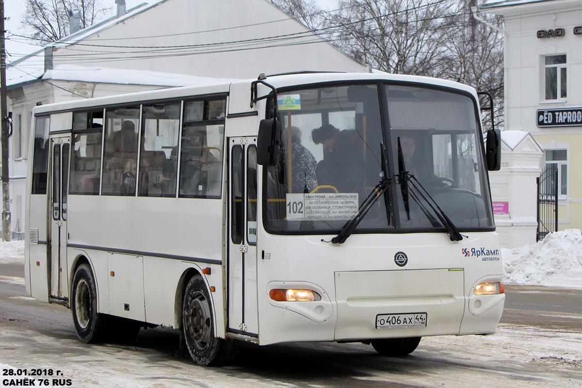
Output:
<instances>
[{"instance_id":1,"label":"pale overcast sky above the rooftops and bare trees","mask_svg":"<svg viewBox=\"0 0 582 388\"><path fill-rule=\"evenodd\" d=\"M198 0L203 1L203 0ZM205 0L204 0L205 1ZM212 1L212 0L210 0ZM246 0L238 0L238 1L246 1ZM338 0L317 0L320 3L320 6L325 9L333 9L337 8ZM140 5L141 3L151 2L148 0L125 0L126 9L132 9L135 6ZM104 6L109 6L111 10L109 11L109 15L113 15L116 10L115 0L102 0L102 4ZM20 26L20 19L24 15L26 11L26 0L4 0L4 16L9 17L9 20L6 20L5 26L6 30L13 34L19 35L26 35L26 30L22 29ZM242 21L244 23L244 20ZM9 34L7 35L9 36ZM17 56L23 54L30 54L30 52L36 51L39 47L30 47L27 44L22 44L23 38L19 37L12 37L6 41L6 52L8 53L8 62L12 62L12 60L17 59Z\"/></svg>"}]
</instances>

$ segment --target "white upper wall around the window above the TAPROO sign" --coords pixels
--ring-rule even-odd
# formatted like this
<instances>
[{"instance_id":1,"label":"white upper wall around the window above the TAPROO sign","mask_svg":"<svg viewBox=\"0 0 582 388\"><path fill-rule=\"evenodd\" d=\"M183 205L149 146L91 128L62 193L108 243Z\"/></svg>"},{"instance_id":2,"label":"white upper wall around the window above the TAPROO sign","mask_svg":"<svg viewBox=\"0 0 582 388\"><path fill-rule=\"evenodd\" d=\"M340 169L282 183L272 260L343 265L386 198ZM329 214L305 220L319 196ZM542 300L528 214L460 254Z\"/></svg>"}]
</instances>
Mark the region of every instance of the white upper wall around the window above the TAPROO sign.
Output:
<instances>
[{"instance_id":1,"label":"white upper wall around the window above the TAPROO sign","mask_svg":"<svg viewBox=\"0 0 582 388\"><path fill-rule=\"evenodd\" d=\"M573 29L582 26L582 5L560 9L524 9L519 15L505 16L505 122L511 130L537 133L567 133L580 127L540 129L536 127L537 109L556 109L582 106L582 35ZM538 30L563 28L563 37L537 38ZM565 101L545 101L544 55L567 55L568 95Z\"/></svg>"}]
</instances>

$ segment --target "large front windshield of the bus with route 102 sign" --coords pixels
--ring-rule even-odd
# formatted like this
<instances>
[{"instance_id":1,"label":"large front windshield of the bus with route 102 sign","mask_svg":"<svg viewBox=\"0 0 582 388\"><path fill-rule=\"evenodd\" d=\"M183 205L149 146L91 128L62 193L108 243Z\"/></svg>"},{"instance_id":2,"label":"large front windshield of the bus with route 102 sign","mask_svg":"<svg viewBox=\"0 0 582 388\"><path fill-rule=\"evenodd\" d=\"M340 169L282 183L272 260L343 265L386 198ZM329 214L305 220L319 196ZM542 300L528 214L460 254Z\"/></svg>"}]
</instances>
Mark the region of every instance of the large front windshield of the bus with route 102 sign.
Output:
<instances>
[{"instance_id":1,"label":"large front windshield of the bus with route 102 sign","mask_svg":"<svg viewBox=\"0 0 582 388\"><path fill-rule=\"evenodd\" d=\"M277 115L279 159L264 169L268 232L336 233L385 179L388 190L354 233L443 232L428 197L459 230L493 230L469 94L387 83L304 88L279 92Z\"/></svg>"}]
</instances>

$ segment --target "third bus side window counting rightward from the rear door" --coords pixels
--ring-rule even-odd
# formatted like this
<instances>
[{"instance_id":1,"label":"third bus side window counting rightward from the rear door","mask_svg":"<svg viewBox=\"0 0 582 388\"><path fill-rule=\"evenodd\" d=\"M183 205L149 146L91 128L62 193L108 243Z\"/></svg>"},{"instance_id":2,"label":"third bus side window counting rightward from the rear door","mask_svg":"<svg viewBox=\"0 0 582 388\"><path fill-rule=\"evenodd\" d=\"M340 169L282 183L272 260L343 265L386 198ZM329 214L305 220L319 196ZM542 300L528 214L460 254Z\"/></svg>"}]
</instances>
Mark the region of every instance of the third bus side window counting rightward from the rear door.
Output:
<instances>
[{"instance_id":1,"label":"third bus side window counting rightward from the rear door","mask_svg":"<svg viewBox=\"0 0 582 388\"><path fill-rule=\"evenodd\" d=\"M142 107L139 195L176 196L179 127L179 102Z\"/></svg>"}]
</instances>

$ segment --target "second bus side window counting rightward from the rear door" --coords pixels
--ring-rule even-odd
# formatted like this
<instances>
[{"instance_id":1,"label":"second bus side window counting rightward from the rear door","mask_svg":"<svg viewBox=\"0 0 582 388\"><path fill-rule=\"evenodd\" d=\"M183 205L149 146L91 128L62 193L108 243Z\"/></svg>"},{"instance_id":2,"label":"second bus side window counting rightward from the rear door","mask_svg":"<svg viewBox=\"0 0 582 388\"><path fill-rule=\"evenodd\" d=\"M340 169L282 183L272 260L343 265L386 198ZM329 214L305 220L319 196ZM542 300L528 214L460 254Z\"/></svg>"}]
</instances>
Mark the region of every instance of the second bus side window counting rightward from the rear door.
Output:
<instances>
[{"instance_id":1,"label":"second bus side window counting rightward from the rear door","mask_svg":"<svg viewBox=\"0 0 582 388\"><path fill-rule=\"evenodd\" d=\"M105 111L103 195L135 195L139 106Z\"/></svg>"}]
</instances>

